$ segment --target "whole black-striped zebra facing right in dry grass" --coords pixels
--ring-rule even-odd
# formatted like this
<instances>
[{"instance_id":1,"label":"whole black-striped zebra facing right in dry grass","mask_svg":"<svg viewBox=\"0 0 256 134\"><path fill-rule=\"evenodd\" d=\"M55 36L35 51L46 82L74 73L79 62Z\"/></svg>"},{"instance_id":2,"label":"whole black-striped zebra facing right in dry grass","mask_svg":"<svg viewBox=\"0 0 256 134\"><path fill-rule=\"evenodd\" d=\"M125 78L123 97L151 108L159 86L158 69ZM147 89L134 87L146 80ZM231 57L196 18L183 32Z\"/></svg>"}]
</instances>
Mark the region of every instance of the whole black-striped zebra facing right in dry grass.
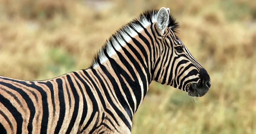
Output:
<instances>
[{"instance_id":1,"label":"whole black-striped zebra facing right in dry grass","mask_svg":"<svg viewBox=\"0 0 256 134\"><path fill-rule=\"evenodd\" d=\"M0 76L0 133L131 133L152 81L205 95L209 74L177 28L169 8L148 10L112 34L87 69L41 81Z\"/></svg>"}]
</instances>

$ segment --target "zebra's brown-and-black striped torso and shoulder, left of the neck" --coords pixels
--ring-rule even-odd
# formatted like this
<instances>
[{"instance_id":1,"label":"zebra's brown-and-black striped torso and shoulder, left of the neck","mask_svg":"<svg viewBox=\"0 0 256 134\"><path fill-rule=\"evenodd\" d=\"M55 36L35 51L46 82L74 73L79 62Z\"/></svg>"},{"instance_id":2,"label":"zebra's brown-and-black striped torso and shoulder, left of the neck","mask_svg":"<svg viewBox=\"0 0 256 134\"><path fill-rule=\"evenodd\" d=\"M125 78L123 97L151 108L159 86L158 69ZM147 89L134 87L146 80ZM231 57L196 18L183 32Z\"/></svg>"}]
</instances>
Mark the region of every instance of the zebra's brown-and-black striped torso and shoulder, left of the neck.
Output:
<instances>
[{"instance_id":1,"label":"zebra's brown-and-black striped torso and shoulder, left of the neck","mask_svg":"<svg viewBox=\"0 0 256 134\"><path fill-rule=\"evenodd\" d=\"M130 132L130 116L121 112L124 109L118 100L110 102L116 96L106 91L107 81L102 80L106 78L92 69L46 81L0 77L2 127L7 133L100 133L101 129L107 133ZM113 112L118 109L119 113ZM119 121L119 116L124 122Z\"/></svg>"}]
</instances>

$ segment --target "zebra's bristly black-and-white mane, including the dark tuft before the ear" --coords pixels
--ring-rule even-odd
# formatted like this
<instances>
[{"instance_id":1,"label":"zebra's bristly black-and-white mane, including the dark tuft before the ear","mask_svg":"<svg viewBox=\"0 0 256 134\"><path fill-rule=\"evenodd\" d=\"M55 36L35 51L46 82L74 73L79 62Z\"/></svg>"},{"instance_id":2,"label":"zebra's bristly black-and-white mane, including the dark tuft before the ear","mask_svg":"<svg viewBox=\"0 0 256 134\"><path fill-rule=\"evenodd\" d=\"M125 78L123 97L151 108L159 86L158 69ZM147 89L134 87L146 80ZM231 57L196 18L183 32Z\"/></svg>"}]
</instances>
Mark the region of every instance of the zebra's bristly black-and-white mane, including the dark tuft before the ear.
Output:
<instances>
[{"instance_id":1,"label":"zebra's bristly black-and-white mane, including the dark tuft before the ear","mask_svg":"<svg viewBox=\"0 0 256 134\"><path fill-rule=\"evenodd\" d=\"M90 68L99 66L99 62L105 62L108 57L111 57L118 51L121 46L124 46L126 42L131 40L131 37L137 35L137 32L141 32L143 28L146 28L150 24L157 22L156 15L159 9L148 10L141 13L139 16L131 20L130 22L119 28L110 38L104 43L97 53L94 54L92 64ZM176 18L169 14L168 27L177 33L179 24ZM107 56L106 56L107 55Z\"/></svg>"}]
</instances>

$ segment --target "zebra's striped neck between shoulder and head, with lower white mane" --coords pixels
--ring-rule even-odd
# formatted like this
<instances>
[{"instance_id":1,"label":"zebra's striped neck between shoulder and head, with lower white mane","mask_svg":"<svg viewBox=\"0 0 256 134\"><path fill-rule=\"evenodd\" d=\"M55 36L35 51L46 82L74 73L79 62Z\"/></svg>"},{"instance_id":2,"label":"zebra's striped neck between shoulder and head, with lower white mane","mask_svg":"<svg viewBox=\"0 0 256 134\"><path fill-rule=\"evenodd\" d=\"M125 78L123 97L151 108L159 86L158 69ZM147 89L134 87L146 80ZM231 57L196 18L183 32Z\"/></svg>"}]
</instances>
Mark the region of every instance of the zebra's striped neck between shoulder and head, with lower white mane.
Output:
<instances>
[{"instance_id":1,"label":"zebra's striped neck between shoulder and head, with lower white mane","mask_svg":"<svg viewBox=\"0 0 256 134\"><path fill-rule=\"evenodd\" d=\"M113 36L101 48L94 59L90 70L97 74L97 79L103 81L104 87L113 92L113 98L118 100L132 116L142 103L149 84L152 81L154 61L159 53L154 34L154 25L136 31L133 36ZM119 36L118 36L119 37ZM122 38L121 38L122 37Z\"/></svg>"}]
</instances>

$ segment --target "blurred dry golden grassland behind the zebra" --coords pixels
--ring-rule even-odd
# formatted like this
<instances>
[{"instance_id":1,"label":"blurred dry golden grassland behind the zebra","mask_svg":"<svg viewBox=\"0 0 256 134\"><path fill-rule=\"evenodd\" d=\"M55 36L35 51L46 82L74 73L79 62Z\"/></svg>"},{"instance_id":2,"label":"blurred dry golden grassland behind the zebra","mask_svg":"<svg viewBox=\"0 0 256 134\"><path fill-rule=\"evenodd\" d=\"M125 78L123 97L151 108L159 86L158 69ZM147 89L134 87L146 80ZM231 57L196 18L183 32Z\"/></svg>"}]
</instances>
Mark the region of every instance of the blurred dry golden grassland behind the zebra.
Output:
<instances>
[{"instance_id":1,"label":"blurred dry golden grassland behind the zebra","mask_svg":"<svg viewBox=\"0 0 256 134\"><path fill-rule=\"evenodd\" d=\"M255 0L0 0L0 75L43 80L86 69L113 32L161 7L212 86L194 99L152 82L132 133L256 133Z\"/></svg>"}]
</instances>

